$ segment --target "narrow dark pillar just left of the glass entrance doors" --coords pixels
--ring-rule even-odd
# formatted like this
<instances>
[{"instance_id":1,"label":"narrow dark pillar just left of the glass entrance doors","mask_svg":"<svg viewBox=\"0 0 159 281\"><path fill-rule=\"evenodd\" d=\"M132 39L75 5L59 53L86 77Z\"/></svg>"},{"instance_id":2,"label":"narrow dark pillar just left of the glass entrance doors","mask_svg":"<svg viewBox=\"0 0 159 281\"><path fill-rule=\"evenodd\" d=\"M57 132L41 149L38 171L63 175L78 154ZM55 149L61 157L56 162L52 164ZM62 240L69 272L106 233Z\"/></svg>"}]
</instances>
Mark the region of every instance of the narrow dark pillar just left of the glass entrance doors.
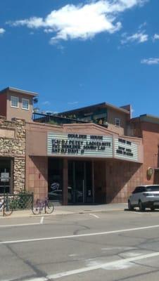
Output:
<instances>
[{"instance_id":1,"label":"narrow dark pillar just left of the glass entrance doors","mask_svg":"<svg viewBox=\"0 0 159 281\"><path fill-rule=\"evenodd\" d=\"M68 159L63 159L63 205L68 205Z\"/></svg>"}]
</instances>

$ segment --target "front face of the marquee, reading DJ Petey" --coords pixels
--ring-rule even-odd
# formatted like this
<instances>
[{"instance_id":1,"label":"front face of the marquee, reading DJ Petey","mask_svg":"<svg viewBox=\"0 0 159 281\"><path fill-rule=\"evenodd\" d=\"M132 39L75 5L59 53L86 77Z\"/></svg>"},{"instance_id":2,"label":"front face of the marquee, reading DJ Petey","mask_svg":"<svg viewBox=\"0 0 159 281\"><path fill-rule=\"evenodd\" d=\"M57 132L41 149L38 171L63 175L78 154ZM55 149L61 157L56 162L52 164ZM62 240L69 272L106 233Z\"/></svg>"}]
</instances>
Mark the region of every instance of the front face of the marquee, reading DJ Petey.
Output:
<instances>
[{"instance_id":1,"label":"front face of the marquee, reading DJ Petey","mask_svg":"<svg viewBox=\"0 0 159 281\"><path fill-rule=\"evenodd\" d=\"M111 158L113 157L113 140L109 136L49 133L48 154Z\"/></svg>"}]
</instances>

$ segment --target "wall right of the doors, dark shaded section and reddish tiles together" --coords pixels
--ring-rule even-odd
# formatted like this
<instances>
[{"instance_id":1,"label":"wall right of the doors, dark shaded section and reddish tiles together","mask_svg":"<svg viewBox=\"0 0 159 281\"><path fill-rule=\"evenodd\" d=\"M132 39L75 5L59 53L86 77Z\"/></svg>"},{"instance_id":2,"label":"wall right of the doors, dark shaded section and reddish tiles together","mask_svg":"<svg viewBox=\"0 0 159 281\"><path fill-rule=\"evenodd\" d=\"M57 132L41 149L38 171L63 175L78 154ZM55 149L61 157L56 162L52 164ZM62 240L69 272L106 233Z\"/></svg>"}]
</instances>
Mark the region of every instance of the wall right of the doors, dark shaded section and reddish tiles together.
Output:
<instances>
[{"instance_id":1,"label":"wall right of the doors, dark shaded section and reddish tiles together","mask_svg":"<svg viewBox=\"0 0 159 281\"><path fill-rule=\"evenodd\" d=\"M96 203L122 203L144 183L143 164L124 161L94 162Z\"/></svg>"}]
</instances>

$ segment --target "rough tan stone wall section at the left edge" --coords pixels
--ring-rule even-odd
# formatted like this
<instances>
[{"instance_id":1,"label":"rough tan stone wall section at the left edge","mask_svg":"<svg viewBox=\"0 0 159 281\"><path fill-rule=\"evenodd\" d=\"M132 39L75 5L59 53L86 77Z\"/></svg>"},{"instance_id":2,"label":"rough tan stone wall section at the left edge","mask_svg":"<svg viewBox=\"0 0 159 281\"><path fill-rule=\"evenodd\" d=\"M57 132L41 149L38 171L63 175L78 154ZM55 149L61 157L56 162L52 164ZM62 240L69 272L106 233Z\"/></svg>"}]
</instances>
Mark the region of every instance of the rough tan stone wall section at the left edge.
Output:
<instances>
[{"instance_id":1,"label":"rough tan stone wall section at the left edge","mask_svg":"<svg viewBox=\"0 0 159 281\"><path fill-rule=\"evenodd\" d=\"M0 117L0 157L13 158L13 192L25 189L25 120Z\"/></svg>"}]
</instances>

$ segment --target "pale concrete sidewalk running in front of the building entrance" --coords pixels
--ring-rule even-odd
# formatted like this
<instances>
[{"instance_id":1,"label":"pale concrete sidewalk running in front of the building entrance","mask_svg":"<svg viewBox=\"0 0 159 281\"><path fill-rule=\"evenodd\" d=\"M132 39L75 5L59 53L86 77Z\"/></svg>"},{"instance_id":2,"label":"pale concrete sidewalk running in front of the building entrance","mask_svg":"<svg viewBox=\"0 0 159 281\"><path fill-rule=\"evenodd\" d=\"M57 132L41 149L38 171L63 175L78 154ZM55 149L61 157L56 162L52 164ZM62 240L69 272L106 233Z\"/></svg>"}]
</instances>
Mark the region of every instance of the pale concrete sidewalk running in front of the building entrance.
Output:
<instances>
[{"instance_id":1,"label":"pale concrete sidewalk running in front of the building entrance","mask_svg":"<svg viewBox=\"0 0 159 281\"><path fill-rule=\"evenodd\" d=\"M0 213L0 218L22 218L30 216L56 216L56 215L69 215L69 214L84 214L84 213L96 213L105 211L123 211L127 209L127 203L121 204L100 204L100 205L68 205L68 206L55 206L55 210L52 214L42 214L34 215L32 210L25 211L13 211L11 216L3 216Z\"/></svg>"}]
</instances>

